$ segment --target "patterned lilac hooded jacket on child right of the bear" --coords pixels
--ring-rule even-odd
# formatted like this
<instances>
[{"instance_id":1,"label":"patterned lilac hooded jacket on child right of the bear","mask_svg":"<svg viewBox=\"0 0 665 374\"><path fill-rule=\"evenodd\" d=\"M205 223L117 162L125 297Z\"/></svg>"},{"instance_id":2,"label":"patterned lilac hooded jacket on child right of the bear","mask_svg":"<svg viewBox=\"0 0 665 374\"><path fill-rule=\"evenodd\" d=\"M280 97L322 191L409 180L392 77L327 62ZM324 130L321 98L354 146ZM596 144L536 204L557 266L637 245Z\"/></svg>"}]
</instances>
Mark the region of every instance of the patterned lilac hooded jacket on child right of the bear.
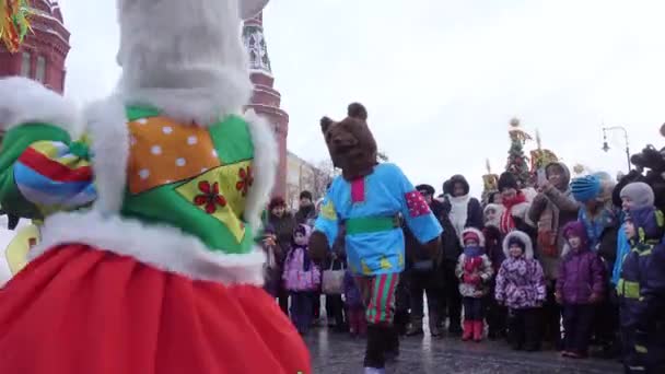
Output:
<instances>
[{"instance_id":1,"label":"patterned lilac hooded jacket on child right of the bear","mask_svg":"<svg viewBox=\"0 0 665 374\"><path fill-rule=\"evenodd\" d=\"M513 258L508 253L512 237L525 245L522 257ZM513 231L503 241L506 259L501 264L497 276L494 297L511 309L539 307L545 302L545 274L538 260L534 259L534 248L526 233Z\"/></svg>"}]
</instances>

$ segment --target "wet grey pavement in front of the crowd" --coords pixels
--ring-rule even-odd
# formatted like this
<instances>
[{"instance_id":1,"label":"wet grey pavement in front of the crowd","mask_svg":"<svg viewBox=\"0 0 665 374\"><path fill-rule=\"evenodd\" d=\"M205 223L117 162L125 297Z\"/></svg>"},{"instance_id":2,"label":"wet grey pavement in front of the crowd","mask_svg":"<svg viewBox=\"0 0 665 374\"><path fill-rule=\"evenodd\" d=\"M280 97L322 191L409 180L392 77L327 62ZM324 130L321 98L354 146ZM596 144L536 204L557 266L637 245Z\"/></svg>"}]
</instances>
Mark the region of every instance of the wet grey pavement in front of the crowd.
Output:
<instances>
[{"instance_id":1,"label":"wet grey pavement in front of the crowd","mask_svg":"<svg viewBox=\"0 0 665 374\"><path fill-rule=\"evenodd\" d=\"M362 373L364 340L348 334L314 328L305 337L314 373ZM402 337L399 359L386 367L388 374L477 373L621 373L610 360L572 360L556 351L516 352L502 341L464 342L459 338Z\"/></svg>"}]
</instances>

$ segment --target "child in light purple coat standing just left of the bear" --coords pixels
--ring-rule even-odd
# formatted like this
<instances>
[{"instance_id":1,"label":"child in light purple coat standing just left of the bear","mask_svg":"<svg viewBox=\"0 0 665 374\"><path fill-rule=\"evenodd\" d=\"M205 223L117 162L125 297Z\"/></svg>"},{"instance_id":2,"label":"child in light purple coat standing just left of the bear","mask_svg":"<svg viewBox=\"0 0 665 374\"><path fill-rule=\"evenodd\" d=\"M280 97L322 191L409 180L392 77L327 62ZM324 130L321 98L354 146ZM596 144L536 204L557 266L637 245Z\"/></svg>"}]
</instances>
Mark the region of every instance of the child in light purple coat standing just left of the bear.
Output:
<instances>
[{"instance_id":1,"label":"child in light purple coat standing just left of the bear","mask_svg":"<svg viewBox=\"0 0 665 374\"><path fill-rule=\"evenodd\" d=\"M282 276L284 288L291 294L291 320L302 335L312 324L314 292L320 285L320 270L310 259L307 248L311 230L306 224L299 224L293 231L293 243Z\"/></svg>"}]
</instances>

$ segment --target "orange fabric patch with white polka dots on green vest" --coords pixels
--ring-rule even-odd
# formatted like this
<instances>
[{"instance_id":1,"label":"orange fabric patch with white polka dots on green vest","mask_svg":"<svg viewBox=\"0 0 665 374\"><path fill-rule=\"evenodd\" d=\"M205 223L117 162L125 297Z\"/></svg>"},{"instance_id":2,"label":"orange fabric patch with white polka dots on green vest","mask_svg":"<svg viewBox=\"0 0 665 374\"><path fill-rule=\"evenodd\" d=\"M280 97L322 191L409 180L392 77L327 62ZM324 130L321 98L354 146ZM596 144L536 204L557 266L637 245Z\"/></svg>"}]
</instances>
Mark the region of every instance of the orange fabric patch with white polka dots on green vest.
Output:
<instances>
[{"instance_id":1,"label":"orange fabric patch with white polka dots on green vest","mask_svg":"<svg viewBox=\"0 0 665 374\"><path fill-rule=\"evenodd\" d=\"M129 122L129 135L131 194L189 179L221 165L205 128L150 117Z\"/></svg>"}]
</instances>

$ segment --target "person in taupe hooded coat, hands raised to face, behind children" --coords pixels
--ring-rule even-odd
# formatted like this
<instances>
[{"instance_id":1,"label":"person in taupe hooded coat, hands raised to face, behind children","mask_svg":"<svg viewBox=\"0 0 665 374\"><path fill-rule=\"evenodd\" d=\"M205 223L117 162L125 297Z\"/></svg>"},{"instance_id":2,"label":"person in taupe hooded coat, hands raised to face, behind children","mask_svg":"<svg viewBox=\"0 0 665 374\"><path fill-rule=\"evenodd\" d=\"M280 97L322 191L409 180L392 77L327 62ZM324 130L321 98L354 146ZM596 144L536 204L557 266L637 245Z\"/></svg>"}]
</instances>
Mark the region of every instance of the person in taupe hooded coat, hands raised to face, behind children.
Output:
<instances>
[{"instance_id":1,"label":"person in taupe hooded coat, hands raised to face, behind children","mask_svg":"<svg viewBox=\"0 0 665 374\"><path fill-rule=\"evenodd\" d=\"M537 222L538 237L536 257L542 264L547 280L547 302L544 305L545 339L560 346L561 308L555 300L561 250L565 246L563 226L578 220L580 203L575 201L569 187L570 171L561 162L545 166L547 182L538 186L538 195L528 211L533 222Z\"/></svg>"}]
</instances>

